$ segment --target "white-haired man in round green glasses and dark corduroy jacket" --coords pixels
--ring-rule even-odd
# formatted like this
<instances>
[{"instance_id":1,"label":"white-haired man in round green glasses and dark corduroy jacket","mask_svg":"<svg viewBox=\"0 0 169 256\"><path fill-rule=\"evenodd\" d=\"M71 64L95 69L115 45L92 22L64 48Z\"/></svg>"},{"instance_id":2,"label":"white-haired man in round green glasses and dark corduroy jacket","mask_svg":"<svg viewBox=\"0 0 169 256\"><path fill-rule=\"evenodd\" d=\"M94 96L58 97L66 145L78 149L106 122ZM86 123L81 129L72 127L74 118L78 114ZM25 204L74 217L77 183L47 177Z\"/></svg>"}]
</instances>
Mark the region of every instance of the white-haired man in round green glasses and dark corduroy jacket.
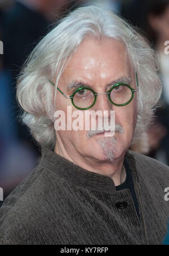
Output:
<instances>
[{"instance_id":1,"label":"white-haired man in round green glasses and dark corduroy jacket","mask_svg":"<svg viewBox=\"0 0 169 256\"><path fill-rule=\"evenodd\" d=\"M152 120L157 72L144 39L98 7L78 8L39 42L17 99L42 158L3 203L1 244L162 244L169 167L128 150Z\"/></svg>"}]
</instances>

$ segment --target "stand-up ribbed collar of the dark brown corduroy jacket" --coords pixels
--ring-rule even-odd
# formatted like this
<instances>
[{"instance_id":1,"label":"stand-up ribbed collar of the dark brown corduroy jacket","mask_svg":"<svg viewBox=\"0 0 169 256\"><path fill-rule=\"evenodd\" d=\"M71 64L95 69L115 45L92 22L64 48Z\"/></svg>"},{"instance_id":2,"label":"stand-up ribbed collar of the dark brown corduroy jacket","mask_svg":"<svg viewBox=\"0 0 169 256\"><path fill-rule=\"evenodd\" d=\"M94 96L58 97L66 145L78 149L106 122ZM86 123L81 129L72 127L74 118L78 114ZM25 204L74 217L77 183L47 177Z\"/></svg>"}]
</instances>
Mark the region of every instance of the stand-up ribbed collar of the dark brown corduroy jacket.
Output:
<instances>
[{"instance_id":1,"label":"stand-up ribbed collar of the dark brown corduroy jacket","mask_svg":"<svg viewBox=\"0 0 169 256\"><path fill-rule=\"evenodd\" d=\"M127 151L124 158L124 166L126 161L130 167L134 184L139 182L136 173L135 158ZM64 157L56 154L54 150L42 147L42 158L39 163L43 168L54 171L57 175L76 183L79 186L96 189L107 193L115 193L116 189L113 180L106 175L94 173L75 165Z\"/></svg>"}]
</instances>

